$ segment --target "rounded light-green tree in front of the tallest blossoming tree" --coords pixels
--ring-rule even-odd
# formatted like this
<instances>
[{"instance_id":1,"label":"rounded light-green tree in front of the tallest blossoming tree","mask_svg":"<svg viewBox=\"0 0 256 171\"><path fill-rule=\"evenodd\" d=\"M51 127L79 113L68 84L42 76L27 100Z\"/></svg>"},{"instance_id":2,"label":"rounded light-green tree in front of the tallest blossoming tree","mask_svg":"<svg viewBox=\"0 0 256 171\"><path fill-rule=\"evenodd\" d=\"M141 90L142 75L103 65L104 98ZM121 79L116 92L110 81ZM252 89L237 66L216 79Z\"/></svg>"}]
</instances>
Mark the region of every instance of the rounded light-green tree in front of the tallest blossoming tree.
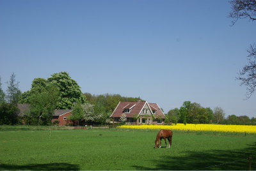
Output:
<instances>
[{"instance_id":1,"label":"rounded light-green tree in front of the tallest blossoming tree","mask_svg":"<svg viewBox=\"0 0 256 171\"><path fill-rule=\"evenodd\" d=\"M31 124L51 124L52 114L58 103L60 91L54 84L48 84L42 92L31 92L30 117Z\"/></svg>"}]
</instances>

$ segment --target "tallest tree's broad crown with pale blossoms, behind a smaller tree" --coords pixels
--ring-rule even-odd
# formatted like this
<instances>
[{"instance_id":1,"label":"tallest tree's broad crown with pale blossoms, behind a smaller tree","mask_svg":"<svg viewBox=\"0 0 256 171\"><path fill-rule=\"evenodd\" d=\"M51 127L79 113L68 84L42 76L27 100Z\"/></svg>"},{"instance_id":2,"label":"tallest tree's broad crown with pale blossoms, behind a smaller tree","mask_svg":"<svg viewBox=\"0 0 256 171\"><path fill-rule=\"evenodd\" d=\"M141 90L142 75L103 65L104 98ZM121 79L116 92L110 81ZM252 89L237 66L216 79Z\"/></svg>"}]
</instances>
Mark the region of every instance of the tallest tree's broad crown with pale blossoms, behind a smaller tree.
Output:
<instances>
[{"instance_id":1,"label":"tallest tree's broad crown with pale blossoms, behind a smaller tree","mask_svg":"<svg viewBox=\"0 0 256 171\"><path fill-rule=\"evenodd\" d=\"M56 86L60 92L56 103L56 108L58 109L70 109L77 100L81 101L81 103L86 101L77 82L73 80L67 72L60 72L52 74L52 76L47 79L35 78L30 91L22 93L20 103L30 103L29 98L31 98L31 94L42 93L45 91L45 87L49 85Z\"/></svg>"}]
</instances>

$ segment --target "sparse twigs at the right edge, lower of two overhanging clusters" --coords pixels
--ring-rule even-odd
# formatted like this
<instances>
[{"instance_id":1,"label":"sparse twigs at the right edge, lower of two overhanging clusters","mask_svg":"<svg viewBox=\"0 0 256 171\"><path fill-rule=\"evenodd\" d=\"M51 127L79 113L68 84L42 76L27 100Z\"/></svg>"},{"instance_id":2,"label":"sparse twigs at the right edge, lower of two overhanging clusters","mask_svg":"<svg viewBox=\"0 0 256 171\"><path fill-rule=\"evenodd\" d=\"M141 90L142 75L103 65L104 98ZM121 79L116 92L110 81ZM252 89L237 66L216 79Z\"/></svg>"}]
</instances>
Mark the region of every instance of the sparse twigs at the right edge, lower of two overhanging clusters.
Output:
<instances>
[{"instance_id":1,"label":"sparse twigs at the right edge, lower of two overhanging clusters","mask_svg":"<svg viewBox=\"0 0 256 171\"><path fill-rule=\"evenodd\" d=\"M239 72L237 80L241 80L241 85L246 85L247 94L246 98L250 98L256 88L256 45L251 45L247 50L248 64L243 67L243 70Z\"/></svg>"}]
</instances>

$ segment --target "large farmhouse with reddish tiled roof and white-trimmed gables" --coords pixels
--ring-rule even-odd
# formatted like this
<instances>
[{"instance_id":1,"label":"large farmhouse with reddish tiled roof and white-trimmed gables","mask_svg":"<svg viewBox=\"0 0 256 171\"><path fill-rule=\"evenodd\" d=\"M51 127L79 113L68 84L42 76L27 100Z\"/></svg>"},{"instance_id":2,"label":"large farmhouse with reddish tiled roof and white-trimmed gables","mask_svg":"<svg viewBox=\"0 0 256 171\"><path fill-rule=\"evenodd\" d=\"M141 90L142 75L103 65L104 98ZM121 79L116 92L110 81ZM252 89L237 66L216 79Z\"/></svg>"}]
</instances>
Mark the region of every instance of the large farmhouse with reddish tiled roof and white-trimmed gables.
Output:
<instances>
[{"instance_id":1,"label":"large farmhouse with reddish tiled roof and white-trimmed gables","mask_svg":"<svg viewBox=\"0 0 256 171\"><path fill-rule=\"evenodd\" d=\"M115 123L126 117L126 124L164 124L164 113L157 103L147 101L122 102L116 106L111 114Z\"/></svg>"}]
</instances>

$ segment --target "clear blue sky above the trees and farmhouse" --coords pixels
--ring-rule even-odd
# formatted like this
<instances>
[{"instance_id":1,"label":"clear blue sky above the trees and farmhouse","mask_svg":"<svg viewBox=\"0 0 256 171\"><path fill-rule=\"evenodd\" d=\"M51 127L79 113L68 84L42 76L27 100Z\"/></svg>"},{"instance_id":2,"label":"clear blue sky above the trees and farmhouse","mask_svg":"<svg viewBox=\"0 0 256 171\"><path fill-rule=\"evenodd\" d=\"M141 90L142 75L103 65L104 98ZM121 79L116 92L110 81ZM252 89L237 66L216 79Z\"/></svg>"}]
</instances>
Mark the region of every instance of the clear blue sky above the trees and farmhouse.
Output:
<instances>
[{"instance_id":1,"label":"clear blue sky above the trees and farmhouse","mask_svg":"<svg viewBox=\"0 0 256 171\"><path fill-rule=\"evenodd\" d=\"M0 77L22 92L67 71L83 93L121 94L168 110L184 101L256 117L236 80L255 22L224 0L0 0Z\"/></svg>"}]
</instances>

